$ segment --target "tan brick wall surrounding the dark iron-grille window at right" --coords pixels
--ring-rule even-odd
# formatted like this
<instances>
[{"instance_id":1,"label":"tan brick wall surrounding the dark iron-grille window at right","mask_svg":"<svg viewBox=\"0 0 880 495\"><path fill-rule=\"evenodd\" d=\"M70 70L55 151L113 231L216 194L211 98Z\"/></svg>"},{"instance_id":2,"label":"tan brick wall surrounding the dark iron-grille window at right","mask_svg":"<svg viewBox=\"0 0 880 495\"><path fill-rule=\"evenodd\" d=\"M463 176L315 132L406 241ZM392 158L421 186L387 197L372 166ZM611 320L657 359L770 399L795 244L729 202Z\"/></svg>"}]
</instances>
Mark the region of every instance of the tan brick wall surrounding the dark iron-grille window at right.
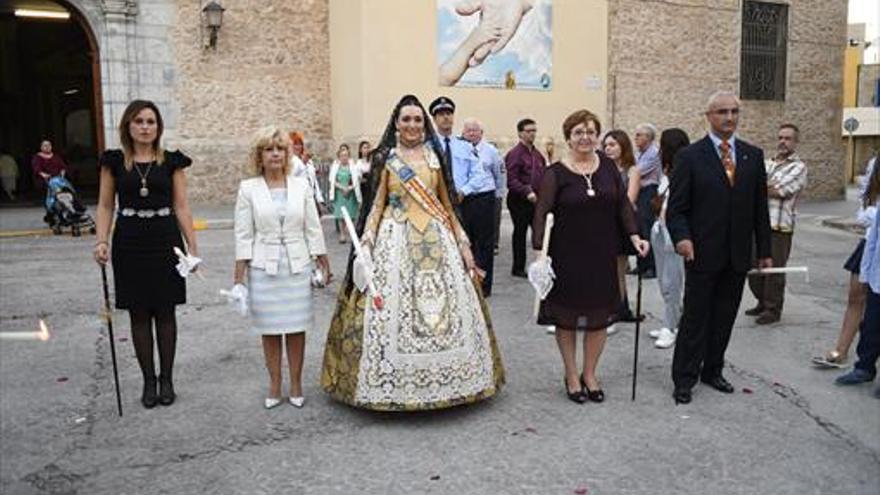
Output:
<instances>
[{"instance_id":1,"label":"tan brick wall surrounding the dark iron-grille window at right","mask_svg":"<svg viewBox=\"0 0 880 495\"><path fill-rule=\"evenodd\" d=\"M784 1L789 7L784 102L743 102L740 135L771 151L783 122L801 129L811 198L842 197L845 148L840 118L845 2ZM740 0L609 0L610 124L681 127L691 139L706 130L706 100L739 92Z\"/></svg>"}]
</instances>

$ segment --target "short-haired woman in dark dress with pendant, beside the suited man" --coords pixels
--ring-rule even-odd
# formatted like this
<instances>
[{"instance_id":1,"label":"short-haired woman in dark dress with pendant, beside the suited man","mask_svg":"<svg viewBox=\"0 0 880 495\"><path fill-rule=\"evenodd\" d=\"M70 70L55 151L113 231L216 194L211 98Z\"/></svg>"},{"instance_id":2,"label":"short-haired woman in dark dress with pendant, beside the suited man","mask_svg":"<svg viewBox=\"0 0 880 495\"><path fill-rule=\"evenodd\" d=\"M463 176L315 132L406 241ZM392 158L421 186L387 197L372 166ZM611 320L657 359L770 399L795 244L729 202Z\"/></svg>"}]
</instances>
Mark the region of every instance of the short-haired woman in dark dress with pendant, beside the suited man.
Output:
<instances>
[{"instance_id":1,"label":"short-haired woman in dark dress with pendant, beside the suited man","mask_svg":"<svg viewBox=\"0 0 880 495\"><path fill-rule=\"evenodd\" d=\"M549 256L556 280L541 303L538 324L556 325L568 398L602 402L596 366L606 329L620 318L617 256L621 237L639 256L648 252L638 236L632 204L614 162L599 153L599 119L587 110L569 115L562 133L568 156L544 173L532 225L532 247L541 248L547 213L555 223ZM583 373L577 370L576 330L585 330Z\"/></svg>"}]
</instances>

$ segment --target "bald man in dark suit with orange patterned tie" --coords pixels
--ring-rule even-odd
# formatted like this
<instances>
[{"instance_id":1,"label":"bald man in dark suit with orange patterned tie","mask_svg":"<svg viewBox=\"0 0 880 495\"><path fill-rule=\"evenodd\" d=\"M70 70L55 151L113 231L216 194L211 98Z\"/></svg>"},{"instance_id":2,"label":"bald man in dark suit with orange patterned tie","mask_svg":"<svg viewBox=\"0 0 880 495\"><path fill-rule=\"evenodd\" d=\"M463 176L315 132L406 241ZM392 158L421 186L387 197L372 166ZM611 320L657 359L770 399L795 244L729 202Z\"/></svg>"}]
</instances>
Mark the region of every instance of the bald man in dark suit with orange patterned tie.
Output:
<instances>
[{"instance_id":1,"label":"bald man in dark suit with orange patterned tie","mask_svg":"<svg viewBox=\"0 0 880 495\"><path fill-rule=\"evenodd\" d=\"M759 267L773 265L764 153L735 134L735 94L712 95L706 119L709 135L675 157L666 215L686 269L684 314L672 362L672 397L684 404L691 401L698 378L733 392L721 371L753 247Z\"/></svg>"}]
</instances>

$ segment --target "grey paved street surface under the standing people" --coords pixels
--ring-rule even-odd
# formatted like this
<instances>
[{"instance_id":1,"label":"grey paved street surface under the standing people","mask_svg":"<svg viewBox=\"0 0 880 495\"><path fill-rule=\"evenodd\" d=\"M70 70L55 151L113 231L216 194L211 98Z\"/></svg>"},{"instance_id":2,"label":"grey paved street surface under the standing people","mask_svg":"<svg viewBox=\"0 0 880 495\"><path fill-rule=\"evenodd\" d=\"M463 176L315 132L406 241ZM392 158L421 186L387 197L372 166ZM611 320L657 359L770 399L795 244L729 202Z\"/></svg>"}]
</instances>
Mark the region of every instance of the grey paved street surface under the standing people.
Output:
<instances>
[{"instance_id":1,"label":"grey paved street surface under the standing people","mask_svg":"<svg viewBox=\"0 0 880 495\"><path fill-rule=\"evenodd\" d=\"M819 208L821 209L821 208ZM52 329L46 343L0 342L0 492L4 494L874 494L880 493L880 401L874 387L841 388L809 357L836 337L855 235L806 215L782 322L741 316L726 374L737 393L704 386L670 398L671 350L651 346L661 315L644 285L638 398L630 401L633 327L612 336L600 366L603 404L563 395L552 336L532 323L532 290L510 271L503 229L490 300L508 384L477 405L376 414L318 387L338 283L317 293L307 336L307 404L262 409L259 340L221 302L232 232L199 233L205 280L179 309L178 402L143 409L127 315L114 313L125 416L116 416L100 274L92 238L0 240L0 330ZM334 270L345 248L325 222ZM635 279L629 277L630 289ZM634 293L634 292L631 292ZM743 309L753 304L746 294Z\"/></svg>"}]
</instances>

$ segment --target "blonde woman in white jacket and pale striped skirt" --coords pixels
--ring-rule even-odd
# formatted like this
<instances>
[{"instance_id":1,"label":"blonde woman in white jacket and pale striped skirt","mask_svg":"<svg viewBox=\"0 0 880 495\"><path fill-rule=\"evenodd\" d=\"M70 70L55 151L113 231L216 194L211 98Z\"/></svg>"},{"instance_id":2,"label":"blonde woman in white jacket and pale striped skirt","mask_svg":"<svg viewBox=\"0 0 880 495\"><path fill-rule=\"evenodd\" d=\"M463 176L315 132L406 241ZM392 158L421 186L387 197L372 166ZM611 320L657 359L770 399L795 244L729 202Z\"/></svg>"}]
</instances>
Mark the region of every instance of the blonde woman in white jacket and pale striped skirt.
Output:
<instances>
[{"instance_id":1,"label":"blonde woman in white jacket and pale striped skirt","mask_svg":"<svg viewBox=\"0 0 880 495\"><path fill-rule=\"evenodd\" d=\"M302 407L305 332L312 328L312 260L329 281L330 265L312 189L290 174L290 139L278 127L257 132L251 178L235 203L235 284L247 275L251 329L262 336L269 371L267 409L281 404L282 339L290 368L289 402ZM286 338L284 337L286 336Z\"/></svg>"}]
</instances>

